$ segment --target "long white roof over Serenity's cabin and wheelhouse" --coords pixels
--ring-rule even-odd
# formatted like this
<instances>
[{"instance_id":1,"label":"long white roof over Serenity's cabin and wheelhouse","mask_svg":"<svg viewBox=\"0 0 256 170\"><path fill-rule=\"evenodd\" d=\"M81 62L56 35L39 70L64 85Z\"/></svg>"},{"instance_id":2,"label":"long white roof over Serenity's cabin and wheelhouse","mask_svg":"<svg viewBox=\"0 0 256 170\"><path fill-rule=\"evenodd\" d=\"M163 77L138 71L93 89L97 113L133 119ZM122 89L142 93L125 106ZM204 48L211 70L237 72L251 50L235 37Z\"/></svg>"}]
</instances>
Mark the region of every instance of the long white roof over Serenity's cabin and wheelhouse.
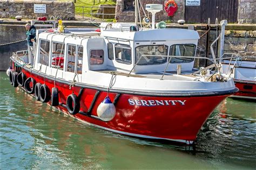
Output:
<instances>
[{"instance_id":1,"label":"long white roof over Serenity's cabin and wheelhouse","mask_svg":"<svg viewBox=\"0 0 256 170\"><path fill-rule=\"evenodd\" d=\"M57 36L55 33L47 32L45 34L45 36L48 38L52 37L53 35ZM45 36L42 36L42 37L45 37ZM143 31L122 31L121 29L108 29L108 30L102 30L102 32L95 32L95 29L86 29L86 30L70 29L69 33L62 33L62 34L59 34L59 36L57 37L60 38L60 37L66 37L66 36L87 37L87 38L105 37L105 38L130 40L134 42L199 39L199 35L197 31L187 30L187 29L155 29L155 30L143 30Z\"/></svg>"}]
</instances>

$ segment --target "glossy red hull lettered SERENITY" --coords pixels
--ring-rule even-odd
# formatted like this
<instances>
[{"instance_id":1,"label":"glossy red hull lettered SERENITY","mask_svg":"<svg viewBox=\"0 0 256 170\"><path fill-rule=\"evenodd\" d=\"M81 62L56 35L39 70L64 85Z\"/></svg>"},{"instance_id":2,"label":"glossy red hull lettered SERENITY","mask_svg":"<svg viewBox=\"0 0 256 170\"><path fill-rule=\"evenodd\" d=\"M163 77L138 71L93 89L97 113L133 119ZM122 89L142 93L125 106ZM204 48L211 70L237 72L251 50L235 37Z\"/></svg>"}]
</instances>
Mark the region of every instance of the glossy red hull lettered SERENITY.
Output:
<instances>
[{"instance_id":1,"label":"glossy red hull lettered SERENITY","mask_svg":"<svg viewBox=\"0 0 256 170\"><path fill-rule=\"evenodd\" d=\"M26 77L33 77L36 82L46 84L50 89L54 87L53 80L45 79L41 75L33 74L29 70L22 69ZM57 109L69 114L65 104L70 94L78 95L81 87L71 87L68 83L56 81L59 103ZM80 96L80 112L75 115L82 121L98 126L105 130L126 134L129 136L168 139L191 144L197 137L197 133L217 105L226 97L233 94L212 96L143 96L132 94L120 94L116 102L116 116L112 121L104 122L86 114L91 106L97 89L84 88ZM106 91L99 91L95 104L91 109L91 115L97 116L98 105L106 97ZM113 102L118 94L109 93ZM50 102L49 102L50 104Z\"/></svg>"}]
</instances>

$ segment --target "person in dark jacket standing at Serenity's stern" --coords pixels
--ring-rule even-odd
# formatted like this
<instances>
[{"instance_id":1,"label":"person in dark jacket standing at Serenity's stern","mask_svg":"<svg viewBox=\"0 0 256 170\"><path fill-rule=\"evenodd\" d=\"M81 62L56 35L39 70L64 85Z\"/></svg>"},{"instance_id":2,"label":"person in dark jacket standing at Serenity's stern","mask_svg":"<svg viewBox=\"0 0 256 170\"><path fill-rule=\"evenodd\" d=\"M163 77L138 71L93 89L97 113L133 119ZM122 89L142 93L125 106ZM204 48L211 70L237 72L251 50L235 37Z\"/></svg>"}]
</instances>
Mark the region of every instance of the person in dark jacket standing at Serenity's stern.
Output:
<instances>
[{"instance_id":1,"label":"person in dark jacket standing at Serenity's stern","mask_svg":"<svg viewBox=\"0 0 256 170\"><path fill-rule=\"evenodd\" d=\"M33 65L33 42L36 42L36 27L27 23L26 27L26 40L28 41L29 64Z\"/></svg>"}]
</instances>

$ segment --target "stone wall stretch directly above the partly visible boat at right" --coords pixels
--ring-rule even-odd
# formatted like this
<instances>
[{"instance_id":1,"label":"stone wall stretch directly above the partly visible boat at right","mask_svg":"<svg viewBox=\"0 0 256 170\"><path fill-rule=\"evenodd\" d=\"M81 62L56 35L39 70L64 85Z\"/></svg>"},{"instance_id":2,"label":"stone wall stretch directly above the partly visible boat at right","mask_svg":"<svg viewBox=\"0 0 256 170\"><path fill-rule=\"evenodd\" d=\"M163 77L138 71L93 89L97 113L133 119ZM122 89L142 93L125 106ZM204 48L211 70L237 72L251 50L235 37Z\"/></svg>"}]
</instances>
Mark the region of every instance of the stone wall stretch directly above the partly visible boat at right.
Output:
<instances>
[{"instance_id":1,"label":"stone wall stretch directly above the partly visible boat at right","mask_svg":"<svg viewBox=\"0 0 256 170\"><path fill-rule=\"evenodd\" d=\"M256 57L256 31L225 31L224 52Z\"/></svg>"}]
</instances>

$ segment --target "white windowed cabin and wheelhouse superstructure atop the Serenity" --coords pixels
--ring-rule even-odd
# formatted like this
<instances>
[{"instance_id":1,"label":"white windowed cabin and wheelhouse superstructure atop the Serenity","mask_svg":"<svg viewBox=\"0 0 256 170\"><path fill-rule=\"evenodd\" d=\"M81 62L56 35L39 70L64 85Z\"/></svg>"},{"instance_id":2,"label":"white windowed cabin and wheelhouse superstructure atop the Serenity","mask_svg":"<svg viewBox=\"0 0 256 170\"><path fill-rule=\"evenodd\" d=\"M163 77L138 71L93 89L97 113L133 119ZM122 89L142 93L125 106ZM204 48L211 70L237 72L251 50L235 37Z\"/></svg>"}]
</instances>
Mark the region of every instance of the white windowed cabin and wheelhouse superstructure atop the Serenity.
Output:
<instances>
[{"instance_id":1,"label":"white windowed cabin and wheelhouse superstructure atop the Serenity","mask_svg":"<svg viewBox=\"0 0 256 170\"><path fill-rule=\"evenodd\" d=\"M133 74L163 72L169 61L167 71L175 71L181 64L182 71L190 71L194 59L169 60L164 56L195 56L198 38L196 31L180 29L139 32L110 29L101 34L72 29L67 34L45 32L39 34L35 69L46 72L49 67L51 75L63 79L77 74L78 81L89 70L130 72L135 64Z\"/></svg>"}]
</instances>

